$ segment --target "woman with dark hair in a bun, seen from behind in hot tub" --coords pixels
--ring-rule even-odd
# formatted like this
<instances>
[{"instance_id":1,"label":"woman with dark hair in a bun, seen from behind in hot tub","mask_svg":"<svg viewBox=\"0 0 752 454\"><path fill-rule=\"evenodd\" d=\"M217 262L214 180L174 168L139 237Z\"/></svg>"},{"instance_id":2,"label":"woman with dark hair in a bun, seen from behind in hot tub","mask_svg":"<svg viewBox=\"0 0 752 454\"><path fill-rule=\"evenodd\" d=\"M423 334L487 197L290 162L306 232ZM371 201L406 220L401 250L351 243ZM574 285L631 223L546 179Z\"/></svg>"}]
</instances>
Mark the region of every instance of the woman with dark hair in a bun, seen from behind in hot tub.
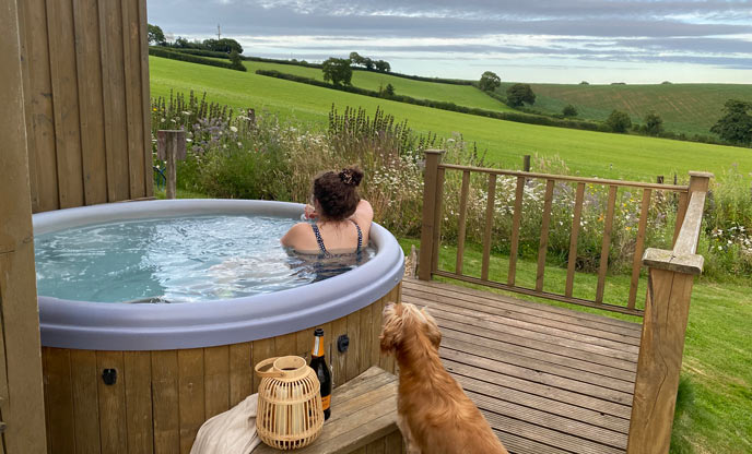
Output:
<instances>
[{"instance_id":1,"label":"woman with dark hair in a bun, seen from behind in hot tub","mask_svg":"<svg viewBox=\"0 0 752 454\"><path fill-rule=\"evenodd\" d=\"M368 244L374 211L357 195L363 171L348 167L327 171L314 180L313 205L305 217L313 223L295 224L282 237L282 246L297 254L315 255L320 263L352 266L359 264Z\"/></svg>"}]
</instances>

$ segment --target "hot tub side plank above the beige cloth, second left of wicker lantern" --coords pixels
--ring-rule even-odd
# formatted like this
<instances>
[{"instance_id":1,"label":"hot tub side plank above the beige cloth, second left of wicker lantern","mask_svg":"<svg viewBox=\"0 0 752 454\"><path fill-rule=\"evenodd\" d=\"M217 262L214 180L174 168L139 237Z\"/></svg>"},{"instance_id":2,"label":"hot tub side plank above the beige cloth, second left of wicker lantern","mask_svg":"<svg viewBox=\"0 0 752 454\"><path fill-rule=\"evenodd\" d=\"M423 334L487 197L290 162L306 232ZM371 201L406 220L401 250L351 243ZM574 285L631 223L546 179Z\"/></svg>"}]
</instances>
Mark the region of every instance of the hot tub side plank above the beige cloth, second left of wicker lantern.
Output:
<instances>
[{"instance_id":1,"label":"hot tub side plank above the beige cloth, second left of wicker lantern","mask_svg":"<svg viewBox=\"0 0 752 454\"><path fill-rule=\"evenodd\" d=\"M230 346L203 349L204 419L230 408Z\"/></svg>"}]
</instances>

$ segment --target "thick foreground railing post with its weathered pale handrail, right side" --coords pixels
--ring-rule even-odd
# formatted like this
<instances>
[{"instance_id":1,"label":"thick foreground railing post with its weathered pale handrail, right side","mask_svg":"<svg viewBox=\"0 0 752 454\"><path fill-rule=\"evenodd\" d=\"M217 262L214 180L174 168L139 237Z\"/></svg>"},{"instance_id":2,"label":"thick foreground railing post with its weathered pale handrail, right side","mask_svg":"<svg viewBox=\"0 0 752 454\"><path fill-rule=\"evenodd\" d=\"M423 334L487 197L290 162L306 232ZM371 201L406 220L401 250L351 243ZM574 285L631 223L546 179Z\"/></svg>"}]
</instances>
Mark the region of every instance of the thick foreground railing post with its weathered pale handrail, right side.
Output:
<instances>
[{"instance_id":1,"label":"thick foreground railing post with its weathered pale handrail, right side","mask_svg":"<svg viewBox=\"0 0 752 454\"><path fill-rule=\"evenodd\" d=\"M690 176L690 203L673 250L648 249L643 256L649 268L648 291L627 454L666 454L671 444L692 285L703 270L703 256L695 251L712 177Z\"/></svg>"}]
</instances>

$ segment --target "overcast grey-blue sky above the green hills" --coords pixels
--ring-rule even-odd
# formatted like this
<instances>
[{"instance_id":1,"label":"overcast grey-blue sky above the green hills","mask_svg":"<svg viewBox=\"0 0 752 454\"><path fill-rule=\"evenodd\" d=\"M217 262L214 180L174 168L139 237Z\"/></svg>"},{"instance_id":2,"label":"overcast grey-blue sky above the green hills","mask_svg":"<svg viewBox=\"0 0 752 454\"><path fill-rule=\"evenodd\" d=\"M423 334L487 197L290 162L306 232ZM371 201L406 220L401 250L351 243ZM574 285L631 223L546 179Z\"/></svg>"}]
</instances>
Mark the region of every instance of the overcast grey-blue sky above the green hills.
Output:
<instances>
[{"instance_id":1,"label":"overcast grey-blue sky above the green hills","mask_svg":"<svg viewBox=\"0 0 752 454\"><path fill-rule=\"evenodd\" d=\"M245 55L351 51L392 71L503 81L752 83L752 1L149 0L166 35L237 39Z\"/></svg>"}]
</instances>

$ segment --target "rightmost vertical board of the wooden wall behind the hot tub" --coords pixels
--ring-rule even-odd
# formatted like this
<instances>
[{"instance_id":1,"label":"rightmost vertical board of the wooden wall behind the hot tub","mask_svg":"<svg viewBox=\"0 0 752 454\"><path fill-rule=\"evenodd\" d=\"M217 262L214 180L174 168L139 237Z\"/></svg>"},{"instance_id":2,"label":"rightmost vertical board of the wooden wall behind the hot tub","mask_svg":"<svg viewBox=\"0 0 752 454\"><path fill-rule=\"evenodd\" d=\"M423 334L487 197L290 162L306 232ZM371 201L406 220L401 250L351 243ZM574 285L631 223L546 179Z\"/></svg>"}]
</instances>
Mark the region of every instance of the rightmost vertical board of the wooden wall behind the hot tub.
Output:
<instances>
[{"instance_id":1,"label":"rightmost vertical board of the wooden wall behind the hot tub","mask_svg":"<svg viewBox=\"0 0 752 454\"><path fill-rule=\"evenodd\" d=\"M128 131L128 179L130 199L143 198L145 184L143 150L143 111L141 110L141 43L139 43L139 4L121 2L122 56L125 62L126 126ZM151 172L149 174L151 176Z\"/></svg>"}]
</instances>

